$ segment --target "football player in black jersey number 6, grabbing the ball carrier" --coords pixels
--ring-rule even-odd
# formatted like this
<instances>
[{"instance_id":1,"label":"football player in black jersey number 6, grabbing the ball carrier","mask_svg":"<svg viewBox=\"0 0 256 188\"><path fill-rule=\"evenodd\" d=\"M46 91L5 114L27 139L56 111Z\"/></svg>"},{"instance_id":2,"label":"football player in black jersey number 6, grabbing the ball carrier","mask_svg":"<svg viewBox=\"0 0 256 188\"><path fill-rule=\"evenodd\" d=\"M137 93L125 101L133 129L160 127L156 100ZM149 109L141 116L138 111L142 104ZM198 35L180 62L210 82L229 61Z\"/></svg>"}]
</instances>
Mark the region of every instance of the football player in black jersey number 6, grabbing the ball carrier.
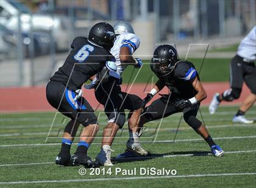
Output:
<instances>
[{"instance_id":1,"label":"football player in black jersey number 6, grabbing the ball carrier","mask_svg":"<svg viewBox=\"0 0 256 188\"><path fill-rule=\"evenodd\" d=\"M98 163L87 156L87 150L98 132L99 125L93 108L81 96L80 89L84 82L105 67L116 69L113 62L115 58L109 52L114 42L115 32L110 24L99 22L93 25L88 39L84 37L74 39L66 61L48 82L46 97L49 104L71 118L64 130L62 147L55 159L56 164L98 167ZM70 147L79 124L82 124L84 129L77 150L71 156Z\"/></svg>"}]
</instances>

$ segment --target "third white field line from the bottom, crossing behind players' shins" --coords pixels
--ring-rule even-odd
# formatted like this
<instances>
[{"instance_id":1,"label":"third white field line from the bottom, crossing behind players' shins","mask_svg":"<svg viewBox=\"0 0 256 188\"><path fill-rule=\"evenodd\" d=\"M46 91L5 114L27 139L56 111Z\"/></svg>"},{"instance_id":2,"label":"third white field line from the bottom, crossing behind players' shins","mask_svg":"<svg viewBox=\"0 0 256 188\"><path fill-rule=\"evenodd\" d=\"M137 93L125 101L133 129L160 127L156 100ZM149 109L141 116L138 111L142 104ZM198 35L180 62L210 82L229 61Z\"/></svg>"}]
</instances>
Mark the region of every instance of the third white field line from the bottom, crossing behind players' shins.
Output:
<instances>
[{"instance_id":1,"label":"third white field line from the bottom, crossing behind players' shins","mask_svg":"<svg viewBox=\"0 0 256 188\"><path fill-rule=\"evenodd\" d=\"M231 137L217 137L214 139L250 139L256 138L256 135L251 136L231 136ZM203 141L202 138L193 138L193 139L176 139L175 142L187 142L187 141ZM160 140L155 141L155 143L172 143L173 140ZM152 141L141 141L141 143L152 143ZM73 143L77 144L77 143ZM100 144L100 143L92 143L92 144ZM123 143L116 143L116 144L123 144ZM60 145L60 143L44 143L44 144L9 144L9 145L0 145L0 147L22 147L22 146L56 146Z\"/></svg>"}]
</instances>

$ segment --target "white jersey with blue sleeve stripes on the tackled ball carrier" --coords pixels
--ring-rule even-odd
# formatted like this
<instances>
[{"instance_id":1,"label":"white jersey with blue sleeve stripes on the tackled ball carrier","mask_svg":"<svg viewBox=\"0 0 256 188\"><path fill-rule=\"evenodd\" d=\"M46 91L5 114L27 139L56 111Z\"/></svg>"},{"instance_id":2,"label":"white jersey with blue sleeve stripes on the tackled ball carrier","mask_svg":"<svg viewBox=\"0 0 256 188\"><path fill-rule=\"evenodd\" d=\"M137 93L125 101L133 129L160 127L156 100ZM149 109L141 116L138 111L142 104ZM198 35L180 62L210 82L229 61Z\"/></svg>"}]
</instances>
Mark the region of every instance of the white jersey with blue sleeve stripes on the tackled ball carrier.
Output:
<instances>
[{"instance_id":1,"label":"white jersey with blue sleeve stripes on the tackled ball carrier","mask_svg":"<svg viewBox=\"0 0 256 188\"><path fill-rule=\"evenodd\" d=\"M140 38L133 33L122 33L116 37L115 43L110 51L116 59L117 73L119 76L123 73L124 69L126 69L127 65L121 65L121 61L119 58L119 53L121 47L128 47L130 50L130 55L135 52L140 46Z\"/></svg>"}]
</instances>

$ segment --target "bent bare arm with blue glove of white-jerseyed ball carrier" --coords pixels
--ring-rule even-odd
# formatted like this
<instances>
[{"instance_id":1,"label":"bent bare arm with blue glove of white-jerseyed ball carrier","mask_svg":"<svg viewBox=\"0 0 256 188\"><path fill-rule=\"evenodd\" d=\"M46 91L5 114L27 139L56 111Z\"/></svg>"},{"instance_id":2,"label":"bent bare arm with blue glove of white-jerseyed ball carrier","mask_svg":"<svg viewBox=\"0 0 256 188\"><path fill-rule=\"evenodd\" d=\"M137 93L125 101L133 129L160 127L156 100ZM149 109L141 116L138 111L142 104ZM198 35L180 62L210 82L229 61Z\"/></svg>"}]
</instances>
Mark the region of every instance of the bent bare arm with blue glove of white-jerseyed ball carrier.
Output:
<instances>
[{"instance_id":1,"label":"bent bare arm with blue glove of white-jerseyed ball carrier","mask_svg":"<svg viewBox=\"0 0 256 188\"><path fill-rule=\"evenodd\" d=\"M121 64L134 65L135 67L138 67L138 68L140 68L142 65L141 59L139 58L134 59L130 53L129 47L126 47L126 46L121 47L119 52L119 58L120 58Z\"/></svg>"}]
</instances>

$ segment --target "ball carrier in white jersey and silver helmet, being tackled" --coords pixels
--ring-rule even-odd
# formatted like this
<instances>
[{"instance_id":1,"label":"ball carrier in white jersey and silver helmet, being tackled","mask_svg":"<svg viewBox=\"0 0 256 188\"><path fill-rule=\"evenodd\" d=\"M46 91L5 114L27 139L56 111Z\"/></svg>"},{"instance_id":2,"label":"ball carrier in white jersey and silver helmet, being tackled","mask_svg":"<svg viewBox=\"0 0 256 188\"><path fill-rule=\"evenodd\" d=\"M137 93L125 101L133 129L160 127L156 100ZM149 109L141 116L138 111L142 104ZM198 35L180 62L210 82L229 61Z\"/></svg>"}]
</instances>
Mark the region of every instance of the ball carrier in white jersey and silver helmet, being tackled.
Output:
<instances>
[{"instance_id":1,"label":"ball carrier in white jersey and silver helmet, being tackled","mask_svg":"<svg viewBox=\"0 0 256 188\"><path fill-rule=\"evenodd\" d=\"M132 57L133 52L140 46L140 38L135 35L132 26L127 22L117 22L113 27L116 40L110 52L115 56L117 71L109 72L106 82L98 81L100 74L93 79L96 99L104 106L104 112L108 116L108 124L102 136L102 149L96 156L96 161L102 166L113 165L110 160L113 151L111 146L116 132L124 125L125 109L130 110L128 116L130 139L126 144L127 150L132 155L148 155L148 152L140 146L137 129L138 119L144 106L143 100L137 95L122 92L119 86L121 75L127 65L134 65L135 68L142 66L141 59ZM85 86L85 88L88 89L91 86Z\"/></svg>"}]
</instances>

